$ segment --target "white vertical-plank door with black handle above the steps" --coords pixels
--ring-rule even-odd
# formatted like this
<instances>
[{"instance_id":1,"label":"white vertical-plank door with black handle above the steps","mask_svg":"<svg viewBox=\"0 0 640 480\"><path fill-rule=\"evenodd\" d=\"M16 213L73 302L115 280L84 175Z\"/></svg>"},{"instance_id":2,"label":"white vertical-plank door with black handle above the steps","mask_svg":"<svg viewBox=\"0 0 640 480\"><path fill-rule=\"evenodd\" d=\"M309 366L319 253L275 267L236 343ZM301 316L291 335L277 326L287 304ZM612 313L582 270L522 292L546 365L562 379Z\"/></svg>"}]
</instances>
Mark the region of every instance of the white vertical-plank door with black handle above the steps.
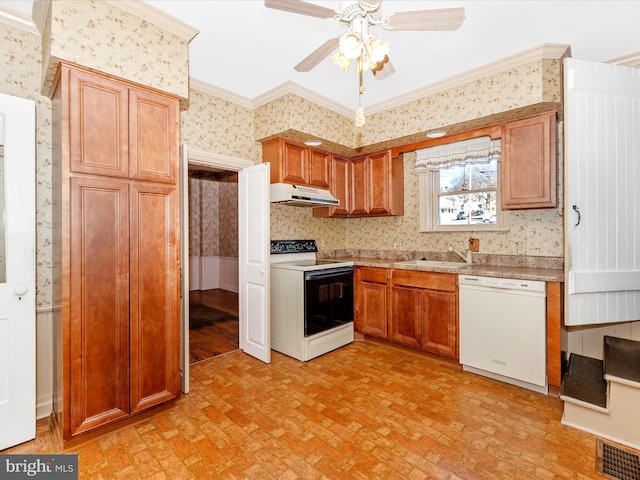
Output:
<instances>
[{"instance_id":1,"label":"white vertical-plank door with black handle above the steps","mask_svg":"<svg viewBox=\"0 0 640 480\"><path fill-rule=\"evenodd\" d=\"M640 318L640 70L565 60L566 325Z\"/></svg>"}]
</instances>

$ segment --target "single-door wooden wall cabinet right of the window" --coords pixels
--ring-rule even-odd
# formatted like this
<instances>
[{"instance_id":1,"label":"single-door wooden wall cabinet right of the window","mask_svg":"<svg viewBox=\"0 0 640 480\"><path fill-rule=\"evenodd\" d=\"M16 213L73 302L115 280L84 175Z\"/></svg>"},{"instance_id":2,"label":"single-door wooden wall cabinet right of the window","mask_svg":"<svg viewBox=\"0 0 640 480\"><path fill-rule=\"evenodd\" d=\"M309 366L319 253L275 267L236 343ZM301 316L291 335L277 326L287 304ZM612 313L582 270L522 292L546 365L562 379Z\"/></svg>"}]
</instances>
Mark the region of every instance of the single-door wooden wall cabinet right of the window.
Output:
<instances>
[{"instance_id":1,"label":"single-door wooden wall cabinet right of the window","mask_svg":"<svg viewBox=\"0 0 640 480\"><path fill-rule=\"evenodd\" d=\"M556 206L556 114L502 125L502 208Z\"/></svg>"}]
</instances>

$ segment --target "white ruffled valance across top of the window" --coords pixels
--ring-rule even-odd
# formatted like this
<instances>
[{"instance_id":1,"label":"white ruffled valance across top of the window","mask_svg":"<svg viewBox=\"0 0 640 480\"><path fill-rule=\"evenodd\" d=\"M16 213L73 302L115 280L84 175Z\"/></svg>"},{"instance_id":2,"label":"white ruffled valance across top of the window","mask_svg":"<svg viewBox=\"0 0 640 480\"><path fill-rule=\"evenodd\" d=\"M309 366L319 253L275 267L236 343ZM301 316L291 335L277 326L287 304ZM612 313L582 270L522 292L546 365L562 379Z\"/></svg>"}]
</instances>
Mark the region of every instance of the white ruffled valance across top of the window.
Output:
<instances>
[{"instance_id":1,"label":"white ruffled valance across top of the window","mask_svg":"<svg viewBox=\"0 0 640 480\"><path fill-rule=\"evenodd\" d=\"M488 163L500 160L500 139L472 138L416 151L416 173L439 170L470 163Z\"/></svg>"}]
</instances>

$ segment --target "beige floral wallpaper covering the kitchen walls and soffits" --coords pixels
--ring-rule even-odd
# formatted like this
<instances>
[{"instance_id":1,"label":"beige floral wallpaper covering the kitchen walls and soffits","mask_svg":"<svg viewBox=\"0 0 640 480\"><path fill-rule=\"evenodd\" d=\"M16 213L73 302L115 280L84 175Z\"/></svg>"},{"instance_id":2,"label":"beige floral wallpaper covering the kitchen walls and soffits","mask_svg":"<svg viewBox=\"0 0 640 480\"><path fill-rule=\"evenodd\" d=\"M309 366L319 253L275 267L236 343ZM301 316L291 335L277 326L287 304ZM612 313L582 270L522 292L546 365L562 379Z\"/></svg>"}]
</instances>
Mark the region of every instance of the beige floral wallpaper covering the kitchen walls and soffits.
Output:
<instances>
[{"instance_id":1,"label":"beige floral wallpaper covering the kitchen walls and soffits","mask_svg":"<svg viewBox=\"0 0 640 480\"><path fill-rule=\"evenodd\" d=\"M77 61L172 93L182 92L184 85L188 85L185 78L188 50L182 39L143 24L134 15L117 9L112 11L113 5L106 2L53 3L57 10L54 20L49 19L54 57L51 64L55 58ZM114 32L120 32L120 29L125 36L135 39L127 48L114 37ZM47 93L42 89L43 70L47 77L51 75L51 64L42 63L42 45L47 44L47 39L1 22L0 39L3 45L0 49L0 92L32 98L37 103L37 305L47 307L51 304L52 281L52 142L50 101L41 95ZM91 48L86 48L87 45ZM167 61L172 68L167 68ZM183 100L181 105L181 141L192 148L259 162L261 146L256 138L274 134L285 126L301 131L315 129L318 136L350 146L355 141L375 143L425 130L429 125L440 125L438 122L445 120L453 123L549 101L546 97L553 96L549 91L559 91L559 81L557 61L532 62L371 115L360 136L354 136L351 118L295 95L285 95L252 111L191 89L188 100ZM360 140L355 140L358 138ZM464 246L466 234L417 233L417 178L411 165L411 158L407 156L404 217L318 219L306 208L273 205L272 238L316 238L321 249L442 251L449 243ZM519 212L512 215L510 232L475 236L481 238L482 253L515 252L516 242L526 241L529 255L562 256L561 213L561 208ZM218 248L220 255L227 255L220 243Z\"/></svg>"}]
</instances>

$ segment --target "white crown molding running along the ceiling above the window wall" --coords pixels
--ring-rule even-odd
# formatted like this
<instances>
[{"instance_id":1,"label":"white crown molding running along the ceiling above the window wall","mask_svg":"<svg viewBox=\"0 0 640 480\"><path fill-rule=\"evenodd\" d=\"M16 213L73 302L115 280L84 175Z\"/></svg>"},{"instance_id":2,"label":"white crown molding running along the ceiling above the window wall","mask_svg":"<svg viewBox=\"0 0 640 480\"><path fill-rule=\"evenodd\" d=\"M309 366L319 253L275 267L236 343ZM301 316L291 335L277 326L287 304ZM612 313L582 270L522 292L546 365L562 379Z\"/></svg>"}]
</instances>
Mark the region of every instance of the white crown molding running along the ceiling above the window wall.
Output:
<instances>
[{"instance_id":1,"label":"white crown molding running along the ceiling above the window wall","mask_svg":"<svg viewBox=\"0 0 640 480\"><path fill-rule=\"evenodd\" d=\"M515 55L510 55L495 62L488 63L479 68L468 70L467 72L460 75L449 77L442 81L427 85L426 87L413 90L404 95L391 98L384 102L376 103L367 107L367 114L372 115L374 113L380 113L382 111L389 110L390 108L404 105L406 103L410 103L421 98L428 97L430 95L435 95L451 88L456 88L464 84L479 80L483 77L495 75L505 70L519 67L520 65L524 65L536 60L563 58L570 50L570 48L570 45L559 43L545 43L540 46L530 48L529 50L516 53Z\"/></svg>"}]
</instances>

